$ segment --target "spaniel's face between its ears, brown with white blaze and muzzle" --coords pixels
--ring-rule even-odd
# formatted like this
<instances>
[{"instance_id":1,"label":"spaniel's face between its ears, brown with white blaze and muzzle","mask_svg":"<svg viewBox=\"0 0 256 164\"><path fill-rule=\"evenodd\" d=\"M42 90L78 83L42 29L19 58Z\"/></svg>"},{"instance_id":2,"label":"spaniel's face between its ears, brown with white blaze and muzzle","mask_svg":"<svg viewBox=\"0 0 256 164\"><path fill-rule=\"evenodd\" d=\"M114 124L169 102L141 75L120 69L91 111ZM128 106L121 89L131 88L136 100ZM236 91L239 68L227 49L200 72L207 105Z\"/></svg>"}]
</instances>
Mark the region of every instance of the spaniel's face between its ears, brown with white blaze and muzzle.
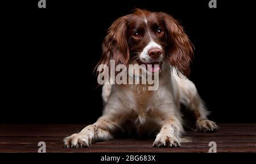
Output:
<instances>
[{"instance_id":1,"label":"spaniel's face between its ears, brown with white blaze and muzzle","mask_svg":"<svg viewBox=\"0 0 256 164\"><path fill-rule=\"evenodd\" d=\"M127 42L130 58L139 64L151 64L150 72L161 71L168 47L167 29L158 14L132 15L127 18Z\"/></svg>"}]
</instances>

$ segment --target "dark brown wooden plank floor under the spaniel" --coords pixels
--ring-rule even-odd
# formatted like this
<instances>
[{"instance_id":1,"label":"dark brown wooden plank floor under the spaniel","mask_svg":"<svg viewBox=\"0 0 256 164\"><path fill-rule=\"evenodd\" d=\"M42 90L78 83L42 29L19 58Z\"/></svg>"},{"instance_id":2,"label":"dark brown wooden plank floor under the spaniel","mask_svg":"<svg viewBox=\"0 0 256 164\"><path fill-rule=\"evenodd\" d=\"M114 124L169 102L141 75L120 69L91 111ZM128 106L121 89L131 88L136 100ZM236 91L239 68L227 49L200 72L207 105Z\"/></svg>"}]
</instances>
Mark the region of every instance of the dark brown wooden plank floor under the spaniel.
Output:
<instances>
[{"instance_id":1,"label":"dark brown wooden plank floor under the spaniel","mask_svg":"<svg viewBox=\"0 0 256 164\"><path fill-rule=\"evenodd\" d=\"M84 125L0 125L0 152L38 152L39 141L46 152L208 152L215 141L217 152L256 152L256 124L218 124L215 133L189 131L191 143L180 148L152 148L154 139L115 139L90 148L63 148L63 138L79 132Z\"/></svg>"}]
</instances>

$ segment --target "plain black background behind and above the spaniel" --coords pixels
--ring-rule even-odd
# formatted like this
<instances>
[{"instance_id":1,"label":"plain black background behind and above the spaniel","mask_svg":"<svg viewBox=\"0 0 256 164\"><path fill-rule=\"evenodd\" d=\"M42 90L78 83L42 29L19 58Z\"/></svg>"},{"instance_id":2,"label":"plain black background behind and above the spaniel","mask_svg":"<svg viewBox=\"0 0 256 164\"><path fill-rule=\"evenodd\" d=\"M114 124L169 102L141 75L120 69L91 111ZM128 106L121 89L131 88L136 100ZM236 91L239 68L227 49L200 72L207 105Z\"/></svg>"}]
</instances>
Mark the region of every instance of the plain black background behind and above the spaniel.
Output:
<instances>
[{"instance_id":1,"label":"plain black background behind and above the spaniel","mask_svg":"<svg viewBox=\"0 0 256 164\"><path fill-rule=\"evenodd\" d=\"M246 1L12 1L1 5L0 123L93 123L102 113L93 69L108 27L134 8L180 20L193 45L189 76L217 123L256 122L255 27ZM7 10L5 10L7 9Z\"/></svg>"}]
</instances>

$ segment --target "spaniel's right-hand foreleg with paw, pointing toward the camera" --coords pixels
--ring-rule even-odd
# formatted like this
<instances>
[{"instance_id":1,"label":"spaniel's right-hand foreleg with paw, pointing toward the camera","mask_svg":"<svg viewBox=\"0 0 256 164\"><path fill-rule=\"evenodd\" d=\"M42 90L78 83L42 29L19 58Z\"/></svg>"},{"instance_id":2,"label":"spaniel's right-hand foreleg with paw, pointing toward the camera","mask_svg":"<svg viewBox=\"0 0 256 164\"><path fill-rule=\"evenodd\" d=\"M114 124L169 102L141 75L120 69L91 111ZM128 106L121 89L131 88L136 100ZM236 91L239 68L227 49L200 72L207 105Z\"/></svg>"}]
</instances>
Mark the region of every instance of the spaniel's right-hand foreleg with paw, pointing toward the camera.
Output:
<instances>
[{"instance_id":1,"label":"spaniel's right-hand foreleg with paw, pointing toward the camera","mask_svg":"<svg viewBox=\"0 0 256 164\"><path fill-rule=\"evenodd\" d=\"M163 126L156 136L153 146L176 147L181 145L183 127L180 119L175 116L164 121Z\"/></svg>"}]
</instances>

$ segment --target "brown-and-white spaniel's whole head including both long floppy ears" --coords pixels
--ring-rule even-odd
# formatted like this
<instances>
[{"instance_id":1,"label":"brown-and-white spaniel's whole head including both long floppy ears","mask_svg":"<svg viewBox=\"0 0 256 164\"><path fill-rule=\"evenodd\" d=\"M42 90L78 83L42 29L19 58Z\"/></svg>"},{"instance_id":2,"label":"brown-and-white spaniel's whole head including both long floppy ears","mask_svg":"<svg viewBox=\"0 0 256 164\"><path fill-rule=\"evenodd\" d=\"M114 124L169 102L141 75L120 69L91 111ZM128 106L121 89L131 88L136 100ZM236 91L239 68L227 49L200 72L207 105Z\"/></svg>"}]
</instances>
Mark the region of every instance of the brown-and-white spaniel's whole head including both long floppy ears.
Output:
<instances>
[{"instance_id":1,"label":"brown-and-white spaniel's whole head including both long floppy ears","mask_svg":"<svg viewBox=\"0 0 256 164\"><path fill-rule=\"evenodd\" d=\"M181 25L164 12L135 10L114 21L102 44L99 64L152 64L149 71L160 72L167 62L184 75L189 74L192 44ZM156 65L154 65L156 64Z\"/></svg>"}]
</instances>

